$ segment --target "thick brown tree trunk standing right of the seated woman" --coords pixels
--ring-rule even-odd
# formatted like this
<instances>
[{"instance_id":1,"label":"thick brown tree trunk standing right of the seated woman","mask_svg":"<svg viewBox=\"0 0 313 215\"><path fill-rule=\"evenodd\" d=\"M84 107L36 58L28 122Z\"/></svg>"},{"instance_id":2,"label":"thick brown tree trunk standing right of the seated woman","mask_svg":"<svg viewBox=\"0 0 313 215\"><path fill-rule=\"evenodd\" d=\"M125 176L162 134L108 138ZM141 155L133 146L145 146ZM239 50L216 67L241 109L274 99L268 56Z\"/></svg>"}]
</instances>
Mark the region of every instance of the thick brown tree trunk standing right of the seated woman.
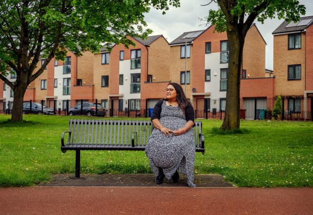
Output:
<instances>
[{"instance_id":1,"label":"thick brown tree trunk standing right of the seated woman","mask_svg":"<svg viewBox=\"0 0 313 215\"><path fill-rule=\"evenodd\" d=\"M240 74L243 58L244 37L238 29L227 30L229 45L229 60L227 74L226 107L222 130L240 128Z\"/></svg>"}]
</instances>

